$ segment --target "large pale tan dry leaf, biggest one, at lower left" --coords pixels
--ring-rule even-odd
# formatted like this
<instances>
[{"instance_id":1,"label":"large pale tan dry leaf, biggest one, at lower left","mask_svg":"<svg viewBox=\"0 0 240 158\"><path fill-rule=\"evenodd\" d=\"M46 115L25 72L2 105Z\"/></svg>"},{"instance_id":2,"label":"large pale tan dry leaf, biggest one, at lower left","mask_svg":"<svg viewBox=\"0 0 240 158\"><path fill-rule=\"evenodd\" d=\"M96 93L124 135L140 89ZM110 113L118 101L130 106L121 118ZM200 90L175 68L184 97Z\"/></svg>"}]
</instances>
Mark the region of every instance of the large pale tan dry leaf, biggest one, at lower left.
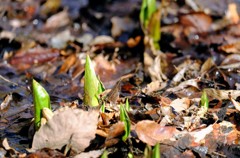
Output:
<instances>
[{"instance_id":1,"label":"large pale tan dry leaf, biggest one, at lower left","mask_svg":"<svg viewBox=\"0 0 240 158\"><path fill-rule=\"evenodd\" d=\"M98 123L97 111L63 108L35 133L32 149L61 149L70 145L79 153L89 146L95 138Z\"/></svg>"}]
</instances>

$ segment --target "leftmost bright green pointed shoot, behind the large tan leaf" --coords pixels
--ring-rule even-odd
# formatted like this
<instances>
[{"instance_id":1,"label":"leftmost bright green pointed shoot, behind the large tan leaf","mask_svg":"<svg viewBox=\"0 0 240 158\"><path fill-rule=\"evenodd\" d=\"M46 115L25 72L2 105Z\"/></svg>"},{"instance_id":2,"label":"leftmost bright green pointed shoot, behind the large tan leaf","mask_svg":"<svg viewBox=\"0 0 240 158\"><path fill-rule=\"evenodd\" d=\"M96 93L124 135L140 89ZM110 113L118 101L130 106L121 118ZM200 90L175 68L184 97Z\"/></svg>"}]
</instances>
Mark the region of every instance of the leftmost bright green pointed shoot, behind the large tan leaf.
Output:
<instances>
[{"instance_id":1,"label":"leftmost bright green pointed shoot, behind the large tan leaf","mask_svg":"<svg viewBox=\"0 0 240 158\"><path fill-rule=\"evenodd\" d=\"M50 97L47 91L35 80L32 81L32 89L34 103L34 123L35 129L37 130L40 127L42 109L43 108L51 109L51 105Z\"/></svg>"}]
</instances>

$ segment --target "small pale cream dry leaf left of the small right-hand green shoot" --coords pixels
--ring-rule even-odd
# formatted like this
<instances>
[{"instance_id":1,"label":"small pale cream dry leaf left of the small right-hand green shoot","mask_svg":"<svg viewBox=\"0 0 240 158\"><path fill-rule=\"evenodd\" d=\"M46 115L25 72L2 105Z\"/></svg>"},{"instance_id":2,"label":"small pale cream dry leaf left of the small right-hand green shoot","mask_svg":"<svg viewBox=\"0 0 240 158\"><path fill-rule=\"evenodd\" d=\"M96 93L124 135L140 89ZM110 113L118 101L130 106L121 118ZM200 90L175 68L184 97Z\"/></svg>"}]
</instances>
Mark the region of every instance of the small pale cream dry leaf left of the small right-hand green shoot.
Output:
<instances>
[{"instance_id":1,"label":"small pale cream dry leaf left of the small right-hand green shoot","mask_svg":"<svg viewBox=\"0 0 240 158\"><path fill-rule=\"evenodd\" d=\"M170 103L170 106L176 111L177 113L180 113L183 110L187 110L190 106L190 99L188 98L181 98L181 99L175 99Z\"/></svg>"}]
</instances>

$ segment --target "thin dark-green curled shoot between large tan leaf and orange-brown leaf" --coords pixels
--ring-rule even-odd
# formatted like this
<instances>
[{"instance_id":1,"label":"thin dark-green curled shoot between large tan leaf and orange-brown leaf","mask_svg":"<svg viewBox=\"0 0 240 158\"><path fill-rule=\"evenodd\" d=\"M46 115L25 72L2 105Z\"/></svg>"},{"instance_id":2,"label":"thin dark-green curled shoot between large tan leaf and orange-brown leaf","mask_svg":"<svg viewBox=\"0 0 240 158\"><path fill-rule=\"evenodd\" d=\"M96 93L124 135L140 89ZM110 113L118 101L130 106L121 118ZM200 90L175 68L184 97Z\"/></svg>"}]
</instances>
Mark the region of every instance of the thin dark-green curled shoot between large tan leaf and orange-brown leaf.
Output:
<instances>
[{"instance_id":1,"label":"thin dark-green curled shoot between large tan leaf and orange-brown leaf","mask_svg":"<svg viewBox=\"0 0 240 158\"><path fill-rule=\"evenodd\" d=\"M130 135L131 122L124 105L120 105L120 120L124 123L125 129L125 134L122 137L122 140L126 141L128 136Z\"/></svg>"}]
</instances>

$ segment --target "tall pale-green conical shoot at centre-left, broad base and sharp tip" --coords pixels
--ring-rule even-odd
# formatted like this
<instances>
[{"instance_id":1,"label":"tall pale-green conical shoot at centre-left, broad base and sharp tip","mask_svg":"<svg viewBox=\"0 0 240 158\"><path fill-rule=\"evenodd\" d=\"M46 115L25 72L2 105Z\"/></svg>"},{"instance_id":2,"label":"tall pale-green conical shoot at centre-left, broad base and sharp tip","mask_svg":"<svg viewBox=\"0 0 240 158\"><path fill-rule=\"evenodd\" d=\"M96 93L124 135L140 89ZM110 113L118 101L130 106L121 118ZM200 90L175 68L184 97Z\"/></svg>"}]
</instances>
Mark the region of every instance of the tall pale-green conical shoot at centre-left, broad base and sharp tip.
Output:
<instances>
[{"instance_id":1,"label":"tall pale-green conical shoot at centre-left, broad base and sharp tip","mask_svg":"<svg viewBox=\"0 0 240 158\"><path fill-rule=\"evenodd\" d=\"M98 95L104 88L98 80L91 59L87 55L84 75L84 104L89 106L98 106Z\"/></svg>"}]
</instances>

